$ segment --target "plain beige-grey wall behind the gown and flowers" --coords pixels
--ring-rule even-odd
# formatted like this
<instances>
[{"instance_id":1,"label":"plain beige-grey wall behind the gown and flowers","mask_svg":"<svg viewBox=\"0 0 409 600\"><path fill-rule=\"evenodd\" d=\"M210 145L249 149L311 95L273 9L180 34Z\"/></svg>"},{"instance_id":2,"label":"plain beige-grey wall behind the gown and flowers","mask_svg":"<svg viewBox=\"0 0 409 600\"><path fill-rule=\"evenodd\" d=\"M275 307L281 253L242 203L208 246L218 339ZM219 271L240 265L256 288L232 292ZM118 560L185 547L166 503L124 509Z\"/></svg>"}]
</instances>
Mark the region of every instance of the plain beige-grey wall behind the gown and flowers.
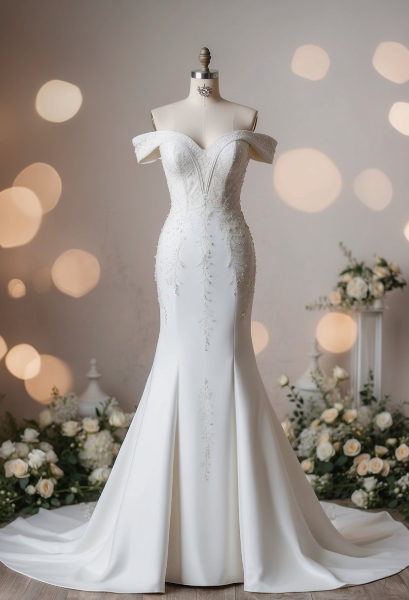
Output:
<instances>
[{"instance_id":1,"label":"plain beige-grey wall behind the gown and flowers","mask_svg":"<svg viewBox=\"0 0 409 600\"><path fill-rule=\"evenodd\" d=\"M344 268L338 242L360 260L376 252L409 278L408 135L388 115L409 101L409 83L394 83L372 65L378 44L409 46L405 0L11 0L1 2L0 189L32 163L50 164L62 180L58 204L25 245L0 248L0 335L8 349L32 344L67 362L73 391L86 387L96 358L101 386L122 406L139 403L154 358L159 305L154 280L158 236L169 211L161 161L138 164L131 139L152 130L150 110L188 95L200 48L212 53L221 95L258 109L256 131L278 140L273 165L251 161L242 209L257 254L252 319L269 333L257 355L280 418L287 410L277 378L307 367L321 311L305 304L327 294ZM326 76L294 73L305 44L324 50ZM65 122L35 109L49 80L80 88L82 106ZM306 212L285 203L274 174L280 156L314 148L330 158L341 191L327 208ZM354 193L365 169L386 173L391 202L375 211ZM294 175L296 176L296 175ZM80 298L35 277L70 248L94 255L97 286ZM20 278L26 295L11 298ZM396 403L409 390L409 291L388 296L384 315L383 388ZM327 373L349 369L349 354L324 352ZM41 406L0 361L0 410L35 416Z\"/></svg>"}]
</instances>

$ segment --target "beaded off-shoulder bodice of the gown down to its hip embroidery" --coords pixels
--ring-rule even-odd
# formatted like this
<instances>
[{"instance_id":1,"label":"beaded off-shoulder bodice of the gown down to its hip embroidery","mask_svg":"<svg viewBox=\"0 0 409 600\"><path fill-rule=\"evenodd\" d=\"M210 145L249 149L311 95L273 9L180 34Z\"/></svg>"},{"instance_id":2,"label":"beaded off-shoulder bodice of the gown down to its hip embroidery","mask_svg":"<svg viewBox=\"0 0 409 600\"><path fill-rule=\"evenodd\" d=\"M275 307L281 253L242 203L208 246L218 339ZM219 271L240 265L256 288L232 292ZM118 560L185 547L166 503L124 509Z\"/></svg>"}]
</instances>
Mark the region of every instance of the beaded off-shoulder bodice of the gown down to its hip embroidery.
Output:
<instances>
[{"instance_id":1,"label":"beaded off-shoulder bodice of the gown down to its hip embroidery","mask_svg":"<svg viewBox=\"0 0 409 600\"><path fill-rule=\"evenodd\" d=\"M263 133L236 130L227 131L204 149L181 131L158 130L140 134L132 143L139 163L162 161L170 193L170 211L155 257L158 301L164 322L171 306L166 298L169 300L172 289L176 296L179 294L184 285L182 268L193 260L193 252L197 268L192 267L192 272L197 272L203 292L199 322L207 350L214 322L210 278L212 269L214 275L217 264L224 262L224 256L230 274L223 277L233 284L234 295L240 291L237 304L242 317L251 301L255 251L240 208L240 191L249 159L272 163L277 142ZM223 241L224 254L220 253L219 240ZM185 248L186 244L190 245Z\"/></svg>"}]
</instances>

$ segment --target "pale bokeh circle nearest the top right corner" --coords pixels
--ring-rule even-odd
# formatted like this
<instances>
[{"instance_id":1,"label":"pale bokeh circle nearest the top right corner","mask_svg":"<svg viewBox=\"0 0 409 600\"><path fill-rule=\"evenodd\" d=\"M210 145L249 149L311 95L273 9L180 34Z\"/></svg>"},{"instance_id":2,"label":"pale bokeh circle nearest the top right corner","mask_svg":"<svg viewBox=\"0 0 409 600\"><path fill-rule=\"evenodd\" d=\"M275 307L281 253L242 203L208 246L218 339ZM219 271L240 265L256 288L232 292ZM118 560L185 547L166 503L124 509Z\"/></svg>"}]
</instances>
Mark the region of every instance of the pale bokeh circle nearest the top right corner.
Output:
<instances>
[{"instance_id":1,"label":"pale bokeh circle nearest the top right corner","mask_svg":"<svg viewBox=\"0 0 409 600\"><path fill-rule=\"evenodd\" d=\"M409 81L409 50L396 41L383 41L378 44L372 58L378 73L394 83Z\"/></svg>"}]
</instances>

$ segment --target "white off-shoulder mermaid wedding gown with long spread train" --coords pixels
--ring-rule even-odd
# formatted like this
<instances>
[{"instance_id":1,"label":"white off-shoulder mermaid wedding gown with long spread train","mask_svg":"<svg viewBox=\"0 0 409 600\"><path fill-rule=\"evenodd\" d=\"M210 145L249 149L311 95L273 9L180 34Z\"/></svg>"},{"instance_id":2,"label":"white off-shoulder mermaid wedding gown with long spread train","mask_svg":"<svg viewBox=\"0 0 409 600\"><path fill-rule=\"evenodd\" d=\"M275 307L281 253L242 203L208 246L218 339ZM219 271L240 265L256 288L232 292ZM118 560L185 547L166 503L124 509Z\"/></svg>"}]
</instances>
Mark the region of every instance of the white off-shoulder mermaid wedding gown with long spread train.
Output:
<instances>
[{"instance_id":1,"label":"white off-shoulder mermaid wedding gown with long spread train","mask_svg":"<svg viewBox=\"0 0 409 600\"><path fill-rule=\"evenodd\" d=\"M160 130L132 142L139 163L162 160L172 200L152 369L98 502L17 517L0 529L0 560L56 586L122 593L165 581L327 590L401 571L407 528L317 499L257 368L240 190L249 159L272 163L276 141L229 131L203 149Z\"/></svg>"}]
</instances>

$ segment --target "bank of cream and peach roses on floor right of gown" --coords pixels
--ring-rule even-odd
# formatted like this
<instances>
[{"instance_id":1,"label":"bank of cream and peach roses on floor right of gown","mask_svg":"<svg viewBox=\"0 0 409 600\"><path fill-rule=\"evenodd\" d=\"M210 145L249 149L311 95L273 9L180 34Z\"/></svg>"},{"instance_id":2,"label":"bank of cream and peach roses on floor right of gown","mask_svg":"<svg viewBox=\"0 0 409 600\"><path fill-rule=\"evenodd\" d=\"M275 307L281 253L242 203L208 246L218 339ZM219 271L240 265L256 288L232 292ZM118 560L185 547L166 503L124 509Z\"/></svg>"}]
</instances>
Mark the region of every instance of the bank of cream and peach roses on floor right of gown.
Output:
<instances>
[{"instance_id":1,"label":"bank of cream and peach roses on floor right of gown","mask_svg":"<svg viewBox=\"0 0 409 600\"><path fill-rule=\"evenodd\" d=\"M402 410L408 402L387 410L389 395L374 397L369 371L360 391L362 404L353 409L351 396L342 395L340 388L347 377L339 367L332 378L315 370L320 401L311 398L308 410L288 377L279 377L295 403L282 427L319 499L350 497L363 509L397 507L409 520L409 419Z\"/></svg>"}]
</instances>

